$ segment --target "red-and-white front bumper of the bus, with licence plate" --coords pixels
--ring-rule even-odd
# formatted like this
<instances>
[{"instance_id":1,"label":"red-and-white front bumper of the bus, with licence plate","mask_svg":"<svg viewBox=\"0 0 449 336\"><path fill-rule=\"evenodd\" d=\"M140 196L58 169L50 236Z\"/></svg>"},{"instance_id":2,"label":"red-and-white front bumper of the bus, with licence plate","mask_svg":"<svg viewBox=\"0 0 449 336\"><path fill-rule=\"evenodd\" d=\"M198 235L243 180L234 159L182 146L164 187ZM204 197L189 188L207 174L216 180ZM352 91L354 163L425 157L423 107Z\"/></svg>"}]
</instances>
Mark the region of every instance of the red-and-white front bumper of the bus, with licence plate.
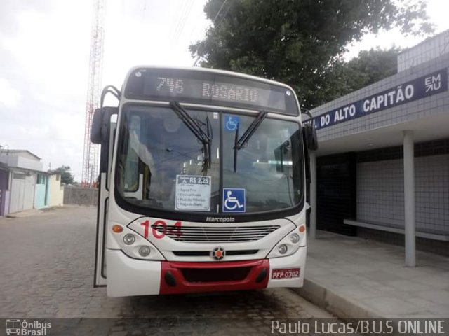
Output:
<instances>
[{"instance_id":1,"label":"red-and-white front bumper of the bus, with licence plate","mask_svg":"<svg viewBox=\"0 0 449 336\"><path fill-rule=\"evenodd\" d=\"M306 251L306 247L301 247L293 255L272 259L174 262L137 260L122 251L107 249L107 295L123 297L301 287ZM299 276L276 279L279 269L298 269Z\"/></svg>"}]
</instances>

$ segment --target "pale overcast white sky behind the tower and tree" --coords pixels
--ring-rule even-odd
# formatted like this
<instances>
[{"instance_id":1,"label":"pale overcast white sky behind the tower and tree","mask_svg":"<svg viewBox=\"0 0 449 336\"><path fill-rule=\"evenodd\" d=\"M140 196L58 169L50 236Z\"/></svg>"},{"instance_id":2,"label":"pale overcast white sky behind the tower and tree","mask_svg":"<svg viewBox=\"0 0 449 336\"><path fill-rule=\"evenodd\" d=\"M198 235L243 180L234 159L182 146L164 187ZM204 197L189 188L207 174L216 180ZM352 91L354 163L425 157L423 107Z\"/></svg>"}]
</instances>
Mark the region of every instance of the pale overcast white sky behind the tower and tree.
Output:
<instances>
[{"instance_id":1,"label":"pale overcast white sky behind the tower and tree","mask_svg":"<svg viewBox=\"0 0 449 336\"><path fill-rule=\"evenodd\" d=\"M106 0L102 86L121 87L131 66L192 66L188 47L210 22L206 0ZM428 0L438 32L449 29L449 1ZM27 149L43 169L69 165L81 181L91 0L0 1L0 146ZM445 18L446 15L446 18ZM424 38L398 31L350 46L408 48Z\"/></svg>"}]
</instances>

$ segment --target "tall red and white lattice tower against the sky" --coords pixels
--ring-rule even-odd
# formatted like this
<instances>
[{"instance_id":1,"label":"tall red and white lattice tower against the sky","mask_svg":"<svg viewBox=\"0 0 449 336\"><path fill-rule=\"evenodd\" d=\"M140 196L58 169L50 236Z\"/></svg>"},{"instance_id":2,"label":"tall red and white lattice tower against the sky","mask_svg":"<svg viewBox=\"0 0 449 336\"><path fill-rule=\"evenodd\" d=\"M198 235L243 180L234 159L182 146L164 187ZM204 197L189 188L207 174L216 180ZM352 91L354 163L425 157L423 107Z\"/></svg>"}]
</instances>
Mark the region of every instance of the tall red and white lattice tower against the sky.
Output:
<instances>
[{"instance_id":1,"label":"tall red and white lattice tower against the sky","mask_svg":"<svg viewBox=\"0 0 449 336\"><path fill-rule=\"evenodd\" d=\"M88 89L86 101L86 125L84 128L83 186L93 186L98 177L100 151L98 145L91 143L93 112L100 106L102 58L105 21L105 0L95 0L91 28L91 53L89 56Z\"/></svg>"}]
</instances>

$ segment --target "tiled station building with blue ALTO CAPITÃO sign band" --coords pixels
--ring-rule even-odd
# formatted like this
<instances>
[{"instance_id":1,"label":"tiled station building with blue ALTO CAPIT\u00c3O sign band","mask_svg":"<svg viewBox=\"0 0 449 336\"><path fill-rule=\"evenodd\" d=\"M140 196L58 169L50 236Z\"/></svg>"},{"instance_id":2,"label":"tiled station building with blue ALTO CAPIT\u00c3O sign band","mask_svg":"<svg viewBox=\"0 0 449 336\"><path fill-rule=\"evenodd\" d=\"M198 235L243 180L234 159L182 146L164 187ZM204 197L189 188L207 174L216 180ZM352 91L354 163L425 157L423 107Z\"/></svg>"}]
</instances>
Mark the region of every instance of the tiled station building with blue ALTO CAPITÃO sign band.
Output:
<instances>
[{"instance_id":1,"label":"tiled station building with blue ALTO CAPIT\u00c3O sign band","mask_svg":"<svg viewBox=\"0 0 449 336\"><path fill-rule=\"evenodd\" d=\"M315 228L449 255L449 31L398 55L398 73L311 111Z\"/></svg>"}]
</instances>

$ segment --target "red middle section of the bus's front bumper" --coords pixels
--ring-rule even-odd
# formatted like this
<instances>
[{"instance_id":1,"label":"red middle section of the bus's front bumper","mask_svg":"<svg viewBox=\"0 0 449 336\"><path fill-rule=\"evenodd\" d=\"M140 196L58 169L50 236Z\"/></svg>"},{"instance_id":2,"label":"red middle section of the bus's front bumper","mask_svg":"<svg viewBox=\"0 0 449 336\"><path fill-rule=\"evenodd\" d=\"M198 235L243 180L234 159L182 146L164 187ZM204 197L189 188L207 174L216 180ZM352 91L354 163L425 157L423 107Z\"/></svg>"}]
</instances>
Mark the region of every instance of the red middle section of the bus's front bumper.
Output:
<instances>
[{"instance_id":1,"label":"red middle section of the bus's front bumper","mask_svg":"<svg viewBox=\"0 0 449 336\"><path fill-rule=\"evenodd\" d=\"M268 259L230 262L163 261L161 266L161 294L262 289L267 287L269 279ZM196 274L195 280L187 281L183 273L187 275L192 272ZM232 272L235 274L231 274ZM201 274L204 275L203 279L201 279ZM216 274L222 274L225 280L212 279L213 275L216 278ZM241 274L244 277L235 280ZM191 275L187 276L187 278L189 277L192 278Z\"/></svg>"}]
</instances>

